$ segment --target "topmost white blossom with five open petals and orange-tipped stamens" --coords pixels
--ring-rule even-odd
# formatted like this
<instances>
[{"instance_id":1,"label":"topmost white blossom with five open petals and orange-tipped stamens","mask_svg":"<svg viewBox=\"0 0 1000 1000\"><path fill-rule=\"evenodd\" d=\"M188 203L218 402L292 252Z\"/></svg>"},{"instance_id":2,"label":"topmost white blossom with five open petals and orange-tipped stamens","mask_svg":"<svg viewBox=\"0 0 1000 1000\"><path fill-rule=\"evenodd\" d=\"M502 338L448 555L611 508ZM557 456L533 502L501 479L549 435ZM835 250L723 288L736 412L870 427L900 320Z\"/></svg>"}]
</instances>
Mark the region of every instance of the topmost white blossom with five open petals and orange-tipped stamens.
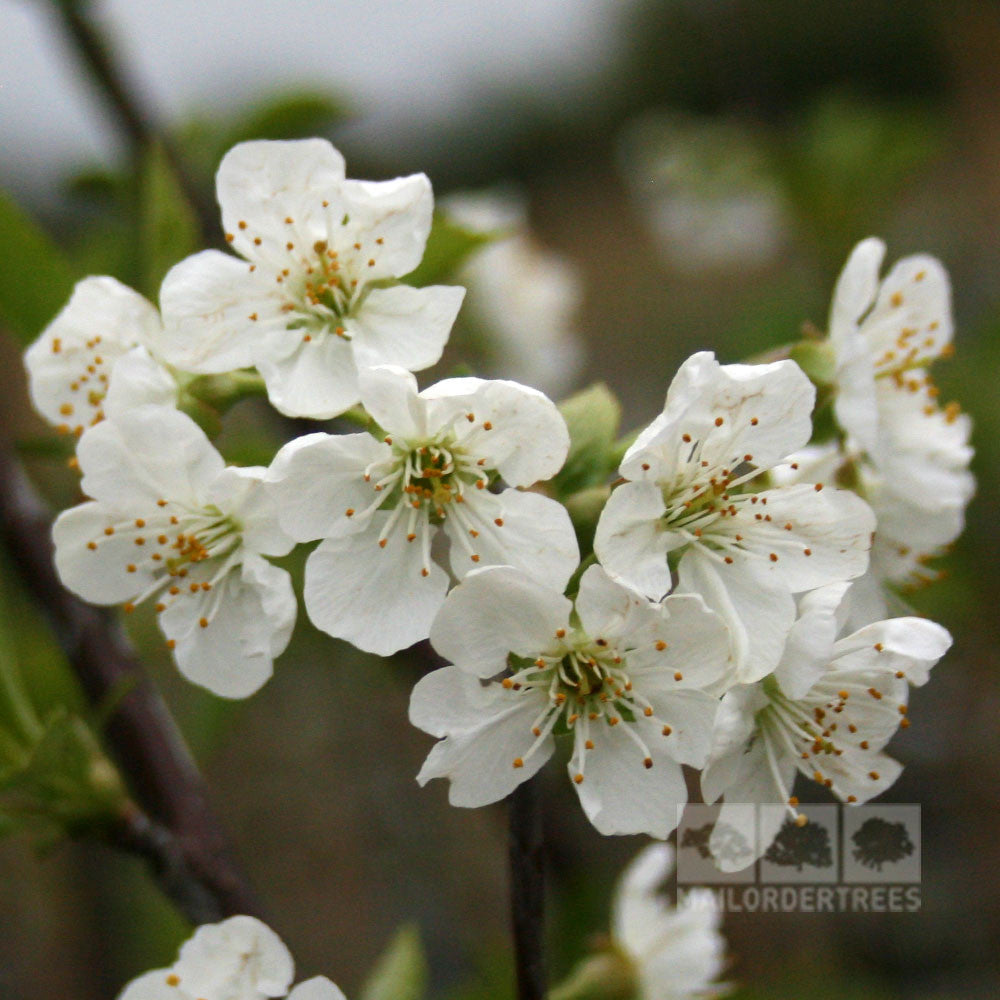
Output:
<instances>
[{"instance_id":1,"label":"topmost white blossom with five open petals and orange-tipped stamens","mask_svg":"<svg viewBox=\"0 0 1000 1000\"><path fill-rule=\"evenodd\" d=\"M167 274L172 364L256 367L282 413L326 418L358 401L359 369L419 371L440 358L464 290L395 280L430 231L423 174L347 180L325 140L245 142L223 158L216 191L240 257L206 250Z\"/></svg>"}]
</instances>

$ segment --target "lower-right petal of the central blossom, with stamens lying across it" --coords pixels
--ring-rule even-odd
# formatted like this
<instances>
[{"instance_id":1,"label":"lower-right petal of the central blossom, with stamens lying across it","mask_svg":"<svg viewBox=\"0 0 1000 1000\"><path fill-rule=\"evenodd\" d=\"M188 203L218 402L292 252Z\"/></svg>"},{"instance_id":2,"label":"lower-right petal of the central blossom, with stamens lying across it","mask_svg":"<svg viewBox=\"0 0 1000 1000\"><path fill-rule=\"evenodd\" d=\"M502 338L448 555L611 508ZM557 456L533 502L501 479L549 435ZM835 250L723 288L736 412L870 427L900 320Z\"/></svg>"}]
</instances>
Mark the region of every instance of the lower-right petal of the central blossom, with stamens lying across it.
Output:
<instances>
[{"instance_id":1,"label":"lower-right petal of the central blossom, with stamens lying across it","mask_svg":"<svg viewBox=\"0 0 1000 1000\"><path fill-rule=\"evenodd\" d=\"M477 567L507 565L561 592L580 562L566 508L539 493L470 493L461 515L449 512L444 530L451 539L452 572L459 579Z\"/></svg>"}]
</instances>

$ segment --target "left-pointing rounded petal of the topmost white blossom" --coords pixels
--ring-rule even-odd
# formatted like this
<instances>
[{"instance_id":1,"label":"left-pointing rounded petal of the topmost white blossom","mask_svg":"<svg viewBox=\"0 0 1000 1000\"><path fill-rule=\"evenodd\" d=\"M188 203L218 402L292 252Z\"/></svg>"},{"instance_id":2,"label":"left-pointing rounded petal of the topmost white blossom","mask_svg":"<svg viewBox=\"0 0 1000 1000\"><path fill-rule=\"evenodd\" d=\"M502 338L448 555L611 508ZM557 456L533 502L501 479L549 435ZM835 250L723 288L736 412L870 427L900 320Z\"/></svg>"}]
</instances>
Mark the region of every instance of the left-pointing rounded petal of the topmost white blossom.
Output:
<instances>
[{"instance_id":1,"label":"left-pointing rounded petal of the topmost white blossom","mask_svg":"<svg viewBox=\"0 0 1000 1000\"><path fill-rule=\"evenodd\" d=\"M244 261L203 250L175 264L163 279L159 353L189 372L250 368L263 332L287 323L281 304Z\"/></svg>"}]
</instances>

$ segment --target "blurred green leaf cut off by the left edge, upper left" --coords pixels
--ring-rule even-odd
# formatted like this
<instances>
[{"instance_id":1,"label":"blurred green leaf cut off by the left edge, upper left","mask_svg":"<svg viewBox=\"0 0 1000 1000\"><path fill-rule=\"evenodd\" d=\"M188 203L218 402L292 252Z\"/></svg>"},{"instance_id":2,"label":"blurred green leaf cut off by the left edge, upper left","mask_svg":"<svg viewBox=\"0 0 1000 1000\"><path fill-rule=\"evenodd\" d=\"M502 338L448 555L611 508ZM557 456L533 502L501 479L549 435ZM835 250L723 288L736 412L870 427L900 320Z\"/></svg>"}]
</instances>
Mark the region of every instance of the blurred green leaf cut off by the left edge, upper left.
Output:
<instances>
[{"instance_id":1,"label":"blurred green leaf cut off by the left edge, upper left","mask_svg":"<svg viewBox=\"0 0 1000 1000\"><path fill-rule=\"evenodd\" d=\"M0 322L27 345L65 305L76 274L62 251L0 191Z\"/></svg>"}]
</instances>

